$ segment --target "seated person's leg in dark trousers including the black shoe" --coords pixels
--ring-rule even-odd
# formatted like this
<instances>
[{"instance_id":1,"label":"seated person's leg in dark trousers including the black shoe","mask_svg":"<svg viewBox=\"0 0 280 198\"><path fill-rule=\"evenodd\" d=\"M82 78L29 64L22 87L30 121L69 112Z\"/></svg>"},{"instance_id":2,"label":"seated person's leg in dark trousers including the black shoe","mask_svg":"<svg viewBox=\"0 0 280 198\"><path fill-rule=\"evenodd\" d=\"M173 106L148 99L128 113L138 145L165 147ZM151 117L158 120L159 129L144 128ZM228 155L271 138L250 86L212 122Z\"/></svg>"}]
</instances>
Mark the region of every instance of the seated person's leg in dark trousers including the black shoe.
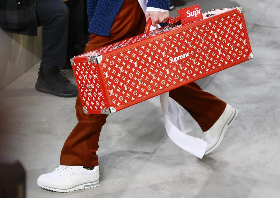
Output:
<instances>
[{"instance_id":1,"label":"seated person's leg in dark trousers including the black shoe","mask_svg":"<svg viewBox=\"0 0 280 198\"><path fill-rule=\"evenodd\" d=\"M36 8L38 26L43 26L43 53L35 88L62 97L76 96L77 86L58 69L66 64L68 7L62 1L43 0Z\"/></svg>"}]
</instances>

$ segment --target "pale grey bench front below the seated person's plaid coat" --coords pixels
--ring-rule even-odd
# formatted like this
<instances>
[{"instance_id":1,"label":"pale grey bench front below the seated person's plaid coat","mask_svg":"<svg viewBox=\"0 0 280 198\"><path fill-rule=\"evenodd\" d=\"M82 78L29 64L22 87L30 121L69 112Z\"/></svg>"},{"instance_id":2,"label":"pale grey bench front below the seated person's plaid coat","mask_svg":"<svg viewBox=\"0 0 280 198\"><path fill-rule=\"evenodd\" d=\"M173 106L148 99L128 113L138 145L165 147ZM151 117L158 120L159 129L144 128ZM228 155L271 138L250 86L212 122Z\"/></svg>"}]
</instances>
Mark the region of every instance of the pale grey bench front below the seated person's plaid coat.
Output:
<instances>
[{"instance_id":1,"label":"pale grey bench front below the seated person's plaid coat","mask_svg":"<svg viewBox=\"0 0 280 198\"><path fill-rule=\"evenodd\" d=\"M42 29L30 37L0 29L0 91L41 60ZM34 77L36 78L36 77Z\"/></svg>"}]
</instances>

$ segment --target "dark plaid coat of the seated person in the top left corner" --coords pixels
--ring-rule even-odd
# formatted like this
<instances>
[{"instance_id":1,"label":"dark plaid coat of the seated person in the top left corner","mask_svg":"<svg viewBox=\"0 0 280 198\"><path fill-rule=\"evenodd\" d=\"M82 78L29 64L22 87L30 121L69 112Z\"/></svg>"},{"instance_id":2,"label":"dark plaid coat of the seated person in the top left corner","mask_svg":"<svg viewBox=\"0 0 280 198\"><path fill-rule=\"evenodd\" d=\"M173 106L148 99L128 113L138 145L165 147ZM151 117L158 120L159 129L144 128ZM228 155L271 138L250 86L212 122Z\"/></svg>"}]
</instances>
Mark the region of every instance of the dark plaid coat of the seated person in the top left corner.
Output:
<instances>
[{"instance_id":1,"label":"dark plaid coat of the seated person in the top left corner","mask_svg":"<svg viewBox=\"0 0 280 198\"><path fill-rule=\"evenodd\" d=\"M37 36L36 1L1 0L0 27L8 32Z\"/></svg>"}]
</instances>

